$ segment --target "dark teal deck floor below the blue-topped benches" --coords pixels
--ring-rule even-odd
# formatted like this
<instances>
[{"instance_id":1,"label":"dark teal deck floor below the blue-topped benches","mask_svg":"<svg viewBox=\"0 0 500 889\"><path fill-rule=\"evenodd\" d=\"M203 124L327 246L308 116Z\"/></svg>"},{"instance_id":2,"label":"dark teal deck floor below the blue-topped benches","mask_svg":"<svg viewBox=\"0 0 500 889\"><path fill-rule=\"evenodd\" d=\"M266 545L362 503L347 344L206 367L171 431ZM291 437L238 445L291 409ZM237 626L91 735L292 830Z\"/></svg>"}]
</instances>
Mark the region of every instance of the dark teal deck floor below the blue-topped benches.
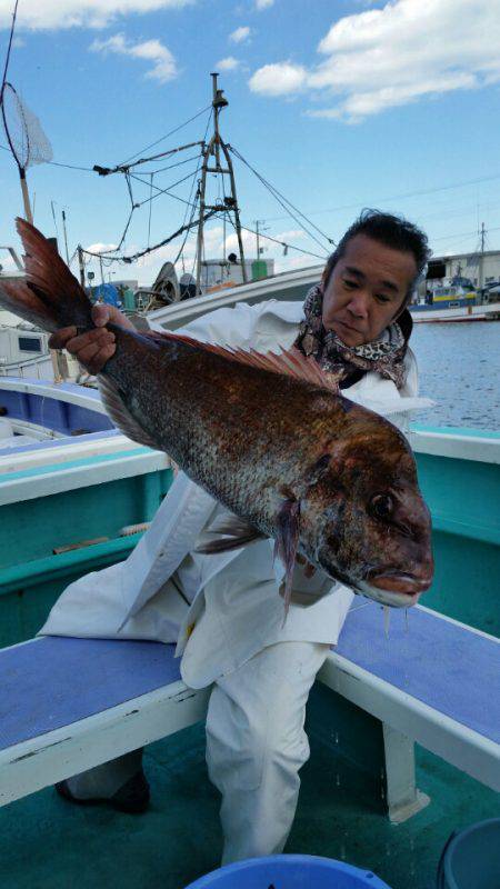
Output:
<instances>
[{"instance_id":1,"label":"dark teal deck floor below the blue-topped benches","mask_svg":"<svg viewBox=\"0 0 500 889\"><path fill-rule=\"evenodd\" d=\"M0 810L2 889L182 889L218 866L219 798L204 765L201 726L148 748L152 805L142 816L76 807L53 789ZM418 750L419 787L431 803L390 825L343 789L342 769L314 737L286 851L367 867L393 889L434 889L440 850L456 828L498 815L498 797Z\"/></svg>"}]
</instances>

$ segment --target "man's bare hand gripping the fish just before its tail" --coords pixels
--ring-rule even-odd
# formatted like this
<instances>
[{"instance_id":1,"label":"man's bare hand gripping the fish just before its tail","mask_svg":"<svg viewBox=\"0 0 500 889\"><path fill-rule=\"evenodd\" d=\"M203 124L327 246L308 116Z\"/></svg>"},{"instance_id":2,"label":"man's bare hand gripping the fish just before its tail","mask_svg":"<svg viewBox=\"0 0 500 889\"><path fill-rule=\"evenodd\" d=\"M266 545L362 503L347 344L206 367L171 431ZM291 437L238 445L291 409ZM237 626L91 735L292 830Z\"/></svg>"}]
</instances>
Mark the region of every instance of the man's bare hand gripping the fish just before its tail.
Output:
<instances>
[{"instance_id":1,"label":"man's bare hand gripping the fish just before its tail","mask_svg":"<svg viewBox=\"0 0 500 889\"><path fill-rule=\"evenodd\" d=\"M61 328L50 337L49 347L68 349L89 373L99 373L117 348L114 333L106 329L108 321L129 330L134 330L134 327L114 306L94 306L92 321L96 328L80 336L77 336L76 327Z\"/></svg>"}]
</instances>

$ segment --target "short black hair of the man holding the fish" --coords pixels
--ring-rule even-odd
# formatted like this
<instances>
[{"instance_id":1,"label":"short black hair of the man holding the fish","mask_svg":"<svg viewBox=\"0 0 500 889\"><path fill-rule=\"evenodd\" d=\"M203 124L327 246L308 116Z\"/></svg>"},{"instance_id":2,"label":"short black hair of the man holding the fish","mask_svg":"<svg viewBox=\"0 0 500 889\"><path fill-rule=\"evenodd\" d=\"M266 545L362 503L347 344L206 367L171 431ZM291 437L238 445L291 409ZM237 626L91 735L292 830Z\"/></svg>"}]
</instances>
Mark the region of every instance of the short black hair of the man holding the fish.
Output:
<instances>
[{"instance_id":1,"label":"short black hair of the man holding the fish","mask_svg":"<svg viewBox=\"0 0 500 889\"><path fill-rule=\"evenodd\" d=\"M328 258L323 272L323 286L327 287L334 267L346 253L349 241L357 234L366 234L367 238L372 238L373 241L379 241L384 247L412 254L417 264L417 273L408 288L406 299L408 302L431 254L427 236L403 217L382 213L380 210L362 210L358 219L348 228L336 250Z\"/></svg>"}]
</instances>

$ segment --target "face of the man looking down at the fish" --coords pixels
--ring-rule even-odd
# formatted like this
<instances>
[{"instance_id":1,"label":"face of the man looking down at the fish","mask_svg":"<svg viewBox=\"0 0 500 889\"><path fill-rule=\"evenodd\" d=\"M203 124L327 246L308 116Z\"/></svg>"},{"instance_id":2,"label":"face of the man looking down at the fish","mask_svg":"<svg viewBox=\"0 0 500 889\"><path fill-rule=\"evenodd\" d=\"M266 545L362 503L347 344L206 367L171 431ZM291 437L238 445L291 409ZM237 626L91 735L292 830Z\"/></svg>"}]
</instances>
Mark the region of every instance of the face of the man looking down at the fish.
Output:
<instances>
[{"instance_id":1,"label":"face of the man looking down at the fish","mask_svg":"<svg viewBox=\"0 0 500 889\"><path fill-rule=\"evenodd\" d=\"M416 274L412 253L356 234L324 291L324 327L346 346L371 342L401 309Z\"/></svg>"}]
</instances>

